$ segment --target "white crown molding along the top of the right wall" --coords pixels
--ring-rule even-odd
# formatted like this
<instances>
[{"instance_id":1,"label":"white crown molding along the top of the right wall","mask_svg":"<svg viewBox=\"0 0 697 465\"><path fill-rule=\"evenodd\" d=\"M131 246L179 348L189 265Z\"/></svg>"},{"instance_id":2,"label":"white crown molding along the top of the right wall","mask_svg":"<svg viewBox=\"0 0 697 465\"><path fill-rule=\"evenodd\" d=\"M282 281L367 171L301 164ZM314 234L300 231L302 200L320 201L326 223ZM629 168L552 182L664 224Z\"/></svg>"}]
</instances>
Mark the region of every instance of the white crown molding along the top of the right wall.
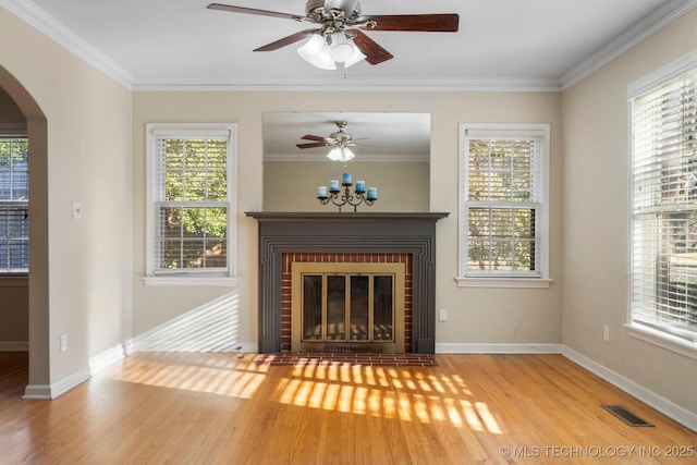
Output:
<instances>
[{"instance_id":1,"label":"white crown molding along the top of the right wall","mask_svg":"<svg viewBox=\"0 0 697 465\"><path fill-rule=\"evenodd\" d=\"M695 7L697 7L697 0L673 0L659 8L610 44L564 73L560 79L562 90L566 90L574 84L577 84L622 53L628 51L632 47L646 40L673 21L688 13Z\"/></svg>"}]
</instances>

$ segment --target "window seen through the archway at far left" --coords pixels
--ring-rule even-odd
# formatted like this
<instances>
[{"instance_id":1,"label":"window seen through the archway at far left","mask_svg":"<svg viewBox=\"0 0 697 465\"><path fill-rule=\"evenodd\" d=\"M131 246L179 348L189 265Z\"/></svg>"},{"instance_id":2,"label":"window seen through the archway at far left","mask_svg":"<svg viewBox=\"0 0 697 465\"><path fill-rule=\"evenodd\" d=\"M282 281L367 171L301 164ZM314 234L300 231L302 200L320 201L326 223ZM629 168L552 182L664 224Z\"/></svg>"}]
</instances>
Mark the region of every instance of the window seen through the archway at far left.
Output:
<instances>
[{"instance_id":1,"label":"window seen through the archway at far left","mask_svg":"<svg viewBox=\"0 0 697 465\"><path fill-rule=\"evenodd\" d=\"M29 172L26 135L0 135L0 273L29 271Z\"/></svg>"}]
</instances>

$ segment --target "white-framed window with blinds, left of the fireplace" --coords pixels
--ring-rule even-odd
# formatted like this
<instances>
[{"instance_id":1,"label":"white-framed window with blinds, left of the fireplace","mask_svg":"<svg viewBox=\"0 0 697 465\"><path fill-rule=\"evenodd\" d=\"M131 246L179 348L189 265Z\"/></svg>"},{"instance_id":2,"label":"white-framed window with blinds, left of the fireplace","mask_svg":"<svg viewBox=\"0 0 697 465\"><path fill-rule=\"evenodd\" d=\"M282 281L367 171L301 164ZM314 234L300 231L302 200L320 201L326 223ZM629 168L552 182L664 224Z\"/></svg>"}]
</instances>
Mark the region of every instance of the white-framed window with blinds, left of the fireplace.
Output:
<instances>
[{"instance_id":1,"label":"white-framed window with blinds, left of the fireplace","mask_svg":"<svg viewBox=\"0 0 697 465\"><path fill-rule=\"evenodd\" d=\"M147 125L150 283L218 285L235 276L235 130Z\"/></svg>"}]
</instances>

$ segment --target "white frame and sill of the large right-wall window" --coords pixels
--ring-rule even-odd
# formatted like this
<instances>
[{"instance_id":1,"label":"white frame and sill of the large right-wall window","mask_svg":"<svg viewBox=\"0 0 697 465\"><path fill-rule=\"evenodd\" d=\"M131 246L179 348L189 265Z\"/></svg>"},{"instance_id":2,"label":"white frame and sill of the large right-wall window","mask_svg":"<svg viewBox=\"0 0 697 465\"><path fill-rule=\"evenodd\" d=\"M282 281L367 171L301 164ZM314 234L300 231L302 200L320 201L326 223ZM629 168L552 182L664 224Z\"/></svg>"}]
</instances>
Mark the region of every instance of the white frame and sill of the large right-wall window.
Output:
<instances>
[{"instance_id":1,"label":"white frame and sill of the large right-wall window","mask_svg":"<svg viewBox=\"0 0 697 465\"><path fill-rule=\"evenodd\" d=\"M680 78L687 73L697 73L697 52L688 53L677 60L662 66L648 75L631 83L627 86L627 178L628 178L628 205L627 205L627 268L629 279L627 280L627 309L626 323L624 325L627 334L643 342L669 350L671 352L697 358L697 331L692 333L692 338L680 335L678 330L670 330L659 323L650 323L646 318L640 318L641 313L636 311L635 318L635 188L634 188L634 161L635 161L635 108L634 102L640 96L656 91L664 85ZM683 127L684 130L684 127ZM681 132L681 135L684 134ZM637 254L638 255L638 254ZM692 339L692 341L690 341Z\"/></svg>"}]
</instances>

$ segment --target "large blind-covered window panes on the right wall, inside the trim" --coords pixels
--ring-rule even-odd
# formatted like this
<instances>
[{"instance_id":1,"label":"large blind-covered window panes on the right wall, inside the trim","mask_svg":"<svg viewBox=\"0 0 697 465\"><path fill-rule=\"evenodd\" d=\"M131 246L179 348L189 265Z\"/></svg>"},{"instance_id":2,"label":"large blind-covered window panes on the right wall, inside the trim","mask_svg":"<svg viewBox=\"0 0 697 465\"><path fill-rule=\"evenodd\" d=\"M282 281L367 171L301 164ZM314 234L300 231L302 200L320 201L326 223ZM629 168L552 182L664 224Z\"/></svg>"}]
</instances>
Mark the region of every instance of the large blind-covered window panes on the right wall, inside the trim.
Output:
<instances>
[{"instance_id":1,"label":"large blind-covered window panes on the right wall, inside the trim","mask_svg":"<svg viewBox=\"0 0 697 465\"><path fill-rule=\"evenodd\" d=\"M632 322L697 342L697 60L629 93Z\"/></svg>"}]
</instances>

